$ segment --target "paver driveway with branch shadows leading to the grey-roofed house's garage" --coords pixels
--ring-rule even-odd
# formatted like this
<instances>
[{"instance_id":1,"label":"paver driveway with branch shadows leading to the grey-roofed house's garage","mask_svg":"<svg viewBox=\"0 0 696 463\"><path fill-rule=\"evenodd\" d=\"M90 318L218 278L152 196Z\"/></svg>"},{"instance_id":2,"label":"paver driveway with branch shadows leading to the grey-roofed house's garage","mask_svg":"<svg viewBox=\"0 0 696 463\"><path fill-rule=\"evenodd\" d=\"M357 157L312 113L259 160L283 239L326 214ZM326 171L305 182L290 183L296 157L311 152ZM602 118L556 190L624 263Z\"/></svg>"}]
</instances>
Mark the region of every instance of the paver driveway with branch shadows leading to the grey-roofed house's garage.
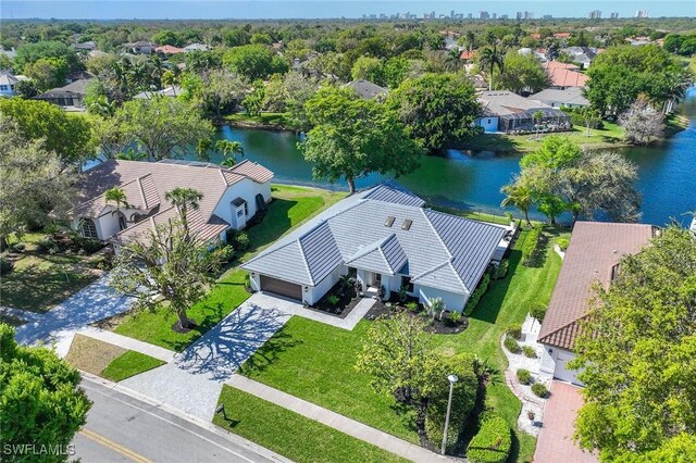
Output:
<instances>
[{"instance_id":1,"label":"paver driveway with branch shadows leading to the grey-roofed house's garage","mask_svg":"<svg viewBox=\"0 0 696 463\"><path fill-rule=\"evenodd\" d=\"M223 383L291 316L283 304L278 299L259 305L250 298L171 363L121 384L210 421Z\"/></svg>"}]
</instances>

